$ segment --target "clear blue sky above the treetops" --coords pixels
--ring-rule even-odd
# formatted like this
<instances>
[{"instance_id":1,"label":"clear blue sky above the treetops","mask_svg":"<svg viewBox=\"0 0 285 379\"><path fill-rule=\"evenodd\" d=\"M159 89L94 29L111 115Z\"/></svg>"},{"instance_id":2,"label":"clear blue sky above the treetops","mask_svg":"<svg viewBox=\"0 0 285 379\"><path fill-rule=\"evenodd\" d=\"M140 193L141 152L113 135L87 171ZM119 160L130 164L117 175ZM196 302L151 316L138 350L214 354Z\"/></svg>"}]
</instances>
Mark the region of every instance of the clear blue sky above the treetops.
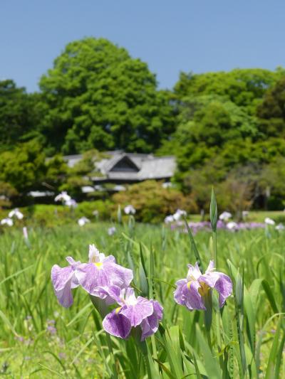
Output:
<instances>
[{"instance_id":1,"label":"clear blue sky above the treetops","mask_svg":"<svg viewBox=\"0 0 285 379\"><path fill-rule=\"evenodd\" d=\"M0 79L29 92L68 42L105 37L162 88L180 71L285 65L284 0L1 0Z\"/></svg>"}]
</instances>

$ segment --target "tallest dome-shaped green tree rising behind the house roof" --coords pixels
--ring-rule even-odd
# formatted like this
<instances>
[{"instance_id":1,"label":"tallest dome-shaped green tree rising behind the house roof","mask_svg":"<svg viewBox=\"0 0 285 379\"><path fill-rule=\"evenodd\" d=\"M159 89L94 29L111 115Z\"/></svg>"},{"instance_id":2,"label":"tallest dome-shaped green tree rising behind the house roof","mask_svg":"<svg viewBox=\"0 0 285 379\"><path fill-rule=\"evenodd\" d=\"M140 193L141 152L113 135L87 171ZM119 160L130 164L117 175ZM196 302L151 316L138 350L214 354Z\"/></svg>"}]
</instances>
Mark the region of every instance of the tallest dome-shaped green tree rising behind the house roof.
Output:
<instances>
[{"instance_id":1,"label":"tallest dome-shaped green tree rising behind the house roof","mask_svg":"<svg viewBox=\"0 0 285 379\"><path fill-rule=\"evenodd\" d=\"M146 63L103 38L69 43L40 87L42 132L64 153L153 151L172 132L170 94Z\"/></svg>"}]
</instances>

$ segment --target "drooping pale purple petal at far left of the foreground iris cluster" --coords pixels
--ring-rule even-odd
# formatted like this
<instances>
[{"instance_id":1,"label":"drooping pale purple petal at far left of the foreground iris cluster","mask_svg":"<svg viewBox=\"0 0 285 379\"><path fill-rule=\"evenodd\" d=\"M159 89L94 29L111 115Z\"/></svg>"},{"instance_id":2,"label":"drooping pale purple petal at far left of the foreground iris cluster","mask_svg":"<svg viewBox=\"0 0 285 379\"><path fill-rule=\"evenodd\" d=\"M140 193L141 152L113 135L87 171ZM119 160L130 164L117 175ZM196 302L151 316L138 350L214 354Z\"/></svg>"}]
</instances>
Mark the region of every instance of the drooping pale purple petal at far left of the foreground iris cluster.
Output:
<instances>
[{"instance_id":1,"label":"drooping pale purple petal at far left of the foreground iris cluster","mask_svg":"<svg viewBox=\"0 0 285 379\"><path fill-rule=\"evenodd\" d=\"M59 303L68 308L73 304L71 289L79 286L76 268L81 265L81 262L76 262L72 257L66 257L66 260L69 266L61 268L58 265L54 265L52 267L51 281Z\"/></svg>"}]
</instances>

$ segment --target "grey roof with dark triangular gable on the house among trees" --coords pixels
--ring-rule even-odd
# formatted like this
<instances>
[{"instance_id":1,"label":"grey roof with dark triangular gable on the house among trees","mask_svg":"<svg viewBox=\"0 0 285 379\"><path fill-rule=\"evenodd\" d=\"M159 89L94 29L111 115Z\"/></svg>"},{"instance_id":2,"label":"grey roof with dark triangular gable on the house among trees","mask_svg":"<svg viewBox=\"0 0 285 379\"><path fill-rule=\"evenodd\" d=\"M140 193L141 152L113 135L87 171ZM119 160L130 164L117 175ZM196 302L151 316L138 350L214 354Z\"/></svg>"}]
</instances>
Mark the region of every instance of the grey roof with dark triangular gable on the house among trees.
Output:
<instances>
[{"instance_id":1,"label":"grey roof with dark triangular gable on the house among trees","mask_svg":"<svg viewBox=\"0 0 285 379\"><path fill-rule=\"evenodd\" d=\"M134 154L124 151L107 151L110 158L95 162L95 170L100 176L93 181L145 181L147 179L167 179L175 173L174 156L153 156L152 154ZM82 159L82 155L63 157L69 167ZM95 174L95 172L94 172Z\"/></svg>"}]
</instances>

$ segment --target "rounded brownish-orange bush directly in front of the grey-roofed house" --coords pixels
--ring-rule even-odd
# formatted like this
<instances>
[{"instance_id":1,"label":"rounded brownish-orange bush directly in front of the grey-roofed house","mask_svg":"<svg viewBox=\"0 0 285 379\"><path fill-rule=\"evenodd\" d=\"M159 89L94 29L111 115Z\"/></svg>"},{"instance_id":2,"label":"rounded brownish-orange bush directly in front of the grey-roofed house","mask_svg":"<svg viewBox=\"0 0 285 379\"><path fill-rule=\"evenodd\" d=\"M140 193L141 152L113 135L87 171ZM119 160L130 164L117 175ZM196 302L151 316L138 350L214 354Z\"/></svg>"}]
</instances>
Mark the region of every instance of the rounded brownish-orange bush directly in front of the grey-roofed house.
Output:
<instances>
[{"instance_id":1,"label":"rounded brownish-orange bush directly in front of the grey-roofed house","mask_svg":"<svg viewBox=\"0 0 285 379\"><path fill-rule=\"evenodd\" d=\"M115 193L113 201L124 207L132 204L135 207L135 218L143 223L159 223L166 215L175 213L177 208L188 213L197 213L197 204L191 196L184 196L174 188L163 188L161 182L144 181L129 186L127 191Z\"/></svg>"}]
</instances>

